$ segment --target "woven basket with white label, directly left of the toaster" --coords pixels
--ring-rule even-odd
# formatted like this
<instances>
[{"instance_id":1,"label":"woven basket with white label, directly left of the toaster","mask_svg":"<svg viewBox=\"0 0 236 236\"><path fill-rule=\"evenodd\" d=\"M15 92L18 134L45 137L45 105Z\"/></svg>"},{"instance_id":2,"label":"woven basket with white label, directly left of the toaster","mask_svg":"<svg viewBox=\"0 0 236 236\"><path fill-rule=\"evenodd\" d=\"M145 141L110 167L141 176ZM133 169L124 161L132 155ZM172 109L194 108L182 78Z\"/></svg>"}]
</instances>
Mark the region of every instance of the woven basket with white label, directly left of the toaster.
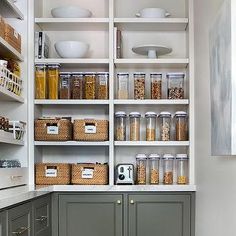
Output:
<instances>
[{"instance_id":1,"label":"woven basket with white label, directly left of the toaster","mask_svg":"<svg viewBox=\"0 0 236 236\"><path fill-rule=\"evenodd\" d=\"M82 185L108 184L107 164L72 164L71 183Z\"/></svg>"}]
</instances>

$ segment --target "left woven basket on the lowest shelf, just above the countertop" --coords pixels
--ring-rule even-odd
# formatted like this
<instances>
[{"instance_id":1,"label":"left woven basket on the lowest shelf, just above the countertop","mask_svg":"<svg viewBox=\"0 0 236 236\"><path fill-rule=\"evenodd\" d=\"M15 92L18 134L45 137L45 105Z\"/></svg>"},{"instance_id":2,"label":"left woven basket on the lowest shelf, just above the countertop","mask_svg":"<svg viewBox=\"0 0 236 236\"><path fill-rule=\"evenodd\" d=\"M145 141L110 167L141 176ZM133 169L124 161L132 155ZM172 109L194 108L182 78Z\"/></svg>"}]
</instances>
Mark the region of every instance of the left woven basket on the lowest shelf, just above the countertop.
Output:
<instances>
[{"instance_id":1,"label":"left woven basket on the lowest shelf, just above the countertop","mask_svg":"<svg viewBox=\"0 0 236 236\"><path fill-rule=\"evenodd\" d=\"M35 164L36 185L70 184L71 166L62 163Z\"/></svg>"}]
</instances>

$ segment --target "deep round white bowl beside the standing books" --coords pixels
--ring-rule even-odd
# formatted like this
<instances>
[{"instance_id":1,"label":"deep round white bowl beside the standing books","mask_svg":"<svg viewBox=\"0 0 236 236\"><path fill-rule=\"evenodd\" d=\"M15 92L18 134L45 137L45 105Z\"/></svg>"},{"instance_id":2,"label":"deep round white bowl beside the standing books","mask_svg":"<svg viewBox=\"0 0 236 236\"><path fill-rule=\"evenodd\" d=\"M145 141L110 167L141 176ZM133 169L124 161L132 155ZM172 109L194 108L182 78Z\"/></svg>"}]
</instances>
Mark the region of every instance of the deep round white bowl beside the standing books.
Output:
<instances>
[{"instance_id":1,"label":"deep round white bowl beside the standing books","mask_svg":"<svg viewBox=\"0 0 236 236\"><path fill-rule=\"evenodd\" d=\"M59 41L54 46L57 54L62 58L83 58L89 49L87 43L80 41Z\"/></svg>"}]
</instances>

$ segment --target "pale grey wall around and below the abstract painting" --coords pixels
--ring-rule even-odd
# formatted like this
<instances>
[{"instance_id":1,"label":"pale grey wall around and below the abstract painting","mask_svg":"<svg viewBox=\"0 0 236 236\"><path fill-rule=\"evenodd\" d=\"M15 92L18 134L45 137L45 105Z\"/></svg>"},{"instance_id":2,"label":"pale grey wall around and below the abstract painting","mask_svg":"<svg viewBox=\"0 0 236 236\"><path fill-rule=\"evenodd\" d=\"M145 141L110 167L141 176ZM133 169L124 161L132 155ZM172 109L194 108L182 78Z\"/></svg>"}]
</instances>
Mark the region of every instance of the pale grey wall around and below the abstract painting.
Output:
<instances>
[{"instance_id":1,"label":"pale grey wall around and below the abstract painting","mask_svg":"<svg viewBox=\"0 0 236 236\"><path fill-rule=\"evenodd\" d=\"M236 157L211 157L209 26L223 0L195 0L196 236L236 235ZM220 115L220 114L219 114Z\"/></svg>"}]
</instances>

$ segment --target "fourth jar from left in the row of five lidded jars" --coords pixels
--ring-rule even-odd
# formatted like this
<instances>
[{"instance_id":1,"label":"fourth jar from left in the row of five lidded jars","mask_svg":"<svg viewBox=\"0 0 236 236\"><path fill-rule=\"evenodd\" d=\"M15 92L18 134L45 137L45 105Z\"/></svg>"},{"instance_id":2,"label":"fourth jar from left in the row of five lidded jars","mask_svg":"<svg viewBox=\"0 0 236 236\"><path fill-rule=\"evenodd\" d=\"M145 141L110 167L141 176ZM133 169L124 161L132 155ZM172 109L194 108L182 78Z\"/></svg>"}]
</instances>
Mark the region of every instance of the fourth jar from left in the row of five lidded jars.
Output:
<instances>
[{"instance_id":1,"label":"fourth jar from left in the row of five lidded jars","mask_svg":"<svg viewBox=\"0 0 236 236\"><path fill-rule=\"evenodd\" d=\"M171 113L161 112L159 118L160 141L170 141Z\"/></svg>"}]
</instances>

